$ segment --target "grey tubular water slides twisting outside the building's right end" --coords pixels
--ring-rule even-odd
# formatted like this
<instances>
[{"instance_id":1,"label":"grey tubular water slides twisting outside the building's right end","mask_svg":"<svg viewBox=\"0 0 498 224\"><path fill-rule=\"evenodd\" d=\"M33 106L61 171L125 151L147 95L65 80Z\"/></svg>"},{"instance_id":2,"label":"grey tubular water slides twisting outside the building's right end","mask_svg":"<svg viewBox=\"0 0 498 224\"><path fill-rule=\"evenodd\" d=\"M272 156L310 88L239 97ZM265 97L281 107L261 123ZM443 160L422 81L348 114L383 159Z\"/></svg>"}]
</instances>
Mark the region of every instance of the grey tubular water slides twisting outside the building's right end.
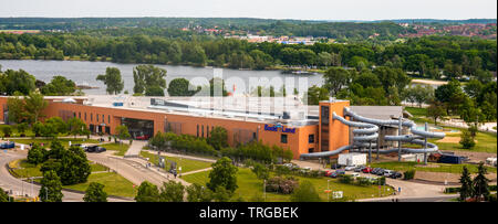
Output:
<instances>
[{"instance_id":1,"label":"grey tubular water slides twisting outside the building's right end","mask_svg":"<svg viewBox=\"0 0 498 224\"><path fill-rule=\"evenodd\" d=\"M372 153L372 147L376 147L376 140L378 138L378 126L398 126L400 130L402 127L407 127L411 130L411 135L400 135L400 136L384 136L384 140L386 141L398 141L400 146L401 142L408 142L408 143L416 143L423 146L423 148L415 149L415 148L392 148L392 149L385 149L385 150L378 150L378 153L391 153L391 152L407 152L407 153L427 153L427 152L435 152L438 150L437 146L430 142L427 142L427 138L437 138L442 139L445 137L444 132L430 132L427 131L427 127L425 130L417 129L417 126L412 120L382 120L382 119L373 119L373 118L366 118L362 117L360 115L356 115L355 113L351 111L350 108L344 107L344 115L353 118L354 121L350 121L344 119L341 116L338 116L335 113L333 113L332 118L335 120L341 121L342 124L349 126L349 127L356 127L356 129L353 130L353 143L349 146L340 147L336 150L332 151L322 151L322 152L313 152L313 153L303 153L301 154L301 159L304 158L321 158L321 157L330 157L341 153L344 150L353 150L357 149L359 152L369 152L371 156ZM367 150L366 150L367 149ZM426 157L425 157L426 160Z\"/></svg>"}]
</instances>

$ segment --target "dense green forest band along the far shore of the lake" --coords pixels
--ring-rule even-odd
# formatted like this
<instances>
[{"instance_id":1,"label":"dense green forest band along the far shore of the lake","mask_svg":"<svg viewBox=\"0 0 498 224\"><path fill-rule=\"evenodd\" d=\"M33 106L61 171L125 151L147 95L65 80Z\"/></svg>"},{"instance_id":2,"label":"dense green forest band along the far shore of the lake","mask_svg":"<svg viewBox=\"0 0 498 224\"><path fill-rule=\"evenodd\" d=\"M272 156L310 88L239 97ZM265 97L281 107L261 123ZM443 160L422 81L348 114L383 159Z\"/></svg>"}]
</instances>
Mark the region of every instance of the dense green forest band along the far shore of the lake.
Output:
<instances>
[{"instance_id":1,"label":"dense green forest band along the far shore of the lake","mask_svg":"<svg viewBox=\"0 0 498 224\"><path fill-rule=\"evenodd\" d=\"M152 35L128 30L110 35L84 33L0 33L2 60L89 60L118 63L185 64L264 70L290 66L390 66L423 77L459 78L496 71L497 42L463 36L426 36L387 45L373 43L279 44L188 35L152 29ZM175 38L164 38L166 32ZM136 34L135 34L136 33ZM443 73L444 71L444 73Z\"/></svg>"}]
</instances>

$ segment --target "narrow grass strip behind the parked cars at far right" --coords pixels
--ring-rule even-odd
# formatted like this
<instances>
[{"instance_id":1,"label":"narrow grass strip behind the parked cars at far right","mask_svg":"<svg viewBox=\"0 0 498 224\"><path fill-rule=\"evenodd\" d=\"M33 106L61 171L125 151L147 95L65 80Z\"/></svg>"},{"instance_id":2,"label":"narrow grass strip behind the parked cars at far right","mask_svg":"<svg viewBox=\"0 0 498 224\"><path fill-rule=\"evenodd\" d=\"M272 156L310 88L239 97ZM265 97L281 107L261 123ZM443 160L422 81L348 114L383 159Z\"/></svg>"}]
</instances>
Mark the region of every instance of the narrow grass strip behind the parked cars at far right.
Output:
<instances>
[{"instance_id":1,"label":"narrow grass strip behind the parked cars at far right","mask_svg":"<svg viewBox=\"0 0 498 224\"><path fill-rule=\"evenodd\" d=\"M469 172L476 173L476 164L448 164L448 163L432 163L427 162L427 167L422 167L424 163L418 163L421 167L415 167L417 162L378 162L372 163L372 168L383 168L387 170L406 171L406 170L417 170L427 172L448 172L448 173L461 173L464 167L467 167ZM488 172L495 172L496 168L487 167Z\"/></svg>"}]
</instances>

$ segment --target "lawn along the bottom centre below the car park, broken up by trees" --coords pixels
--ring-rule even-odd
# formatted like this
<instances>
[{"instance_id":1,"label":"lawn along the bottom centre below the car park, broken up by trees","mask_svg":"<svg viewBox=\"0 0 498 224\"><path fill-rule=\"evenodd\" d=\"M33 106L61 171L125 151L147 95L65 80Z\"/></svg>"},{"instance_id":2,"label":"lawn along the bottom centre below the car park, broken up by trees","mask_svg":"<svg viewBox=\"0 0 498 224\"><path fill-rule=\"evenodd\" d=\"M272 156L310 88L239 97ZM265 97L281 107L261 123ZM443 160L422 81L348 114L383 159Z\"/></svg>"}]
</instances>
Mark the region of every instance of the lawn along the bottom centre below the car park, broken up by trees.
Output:
<instances>
[{"instance_id":1,"label":"lawn along the bottom centre below the car park, broken up by trees","mask_svg":"<svg viewBox=\"0 0 498 224\"><path fill-rule=\"evenodd\" d=\"M199 183L205 185L206 182L209 181L209 172L204 171L198 173L193 173L188 175L181 177L185 181L189 183ZM326 201L326 190L328 180L330 180L330 189L332 191L343 191L344 196L350 199L366 199L366 198L375 198L378 196L380 190L378 186L359 186L352 184L340 183L338 179L331 178L303 178L297 177L300 182L308 180L313 183L314 188L320 194L320 198L323 201ZM235 198L241 196L246 201L250 201L256 195L263 195L263 181L256 178L256 174L248 168L239 168L239 172L237 173L237 184L238 189L235 192ZM387 189L390 189L387 191ZM384 193L385 192L385 193ZM385 196L390 192L393 192L391 186L382 186L381 195ZM289 202L290 194L277 194L277 193L267 193L267 201L269 202Z\"/></svg>"}]
</instances>

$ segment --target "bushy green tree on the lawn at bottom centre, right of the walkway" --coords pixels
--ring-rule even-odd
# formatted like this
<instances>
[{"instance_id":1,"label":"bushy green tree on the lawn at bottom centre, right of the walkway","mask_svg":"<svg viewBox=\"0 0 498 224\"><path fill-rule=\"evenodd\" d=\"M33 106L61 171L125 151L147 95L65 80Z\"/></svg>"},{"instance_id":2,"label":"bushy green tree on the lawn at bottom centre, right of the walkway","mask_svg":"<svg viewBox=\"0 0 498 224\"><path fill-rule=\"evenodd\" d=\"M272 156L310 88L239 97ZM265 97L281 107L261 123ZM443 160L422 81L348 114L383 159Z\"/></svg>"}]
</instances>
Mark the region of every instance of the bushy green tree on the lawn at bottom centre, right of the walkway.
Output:
<instances>
[{"instance_id":1,"label":"bushy green tree on the lawn at bottom centre, right of the walkway","mask_svg":"<svg viewBox=\"0 0 498 224\"><path fill-rule=\"evenodd\" d=\"M209 182L206 184L211 191L222 186L231 193L237 190L237 172L238 168L231 163L231 160L224 157L211 164L212 170L209 173Z\"/></svg>"}]
</instances>

